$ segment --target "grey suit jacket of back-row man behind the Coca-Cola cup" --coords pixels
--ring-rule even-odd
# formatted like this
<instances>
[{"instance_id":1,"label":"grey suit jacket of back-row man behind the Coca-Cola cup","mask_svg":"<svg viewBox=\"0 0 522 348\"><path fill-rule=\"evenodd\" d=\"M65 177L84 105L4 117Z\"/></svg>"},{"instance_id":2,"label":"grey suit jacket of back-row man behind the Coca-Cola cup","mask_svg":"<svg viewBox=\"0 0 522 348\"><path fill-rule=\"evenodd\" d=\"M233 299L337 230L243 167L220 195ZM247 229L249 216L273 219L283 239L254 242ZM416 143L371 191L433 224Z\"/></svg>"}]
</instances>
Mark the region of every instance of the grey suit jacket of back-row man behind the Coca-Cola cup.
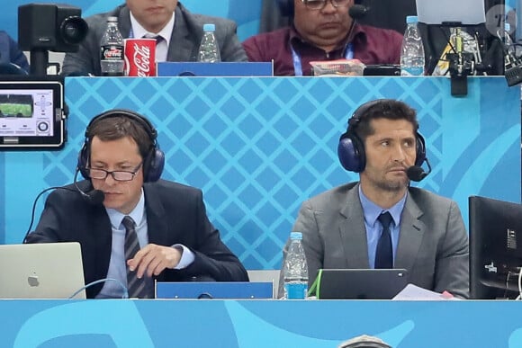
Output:
<instances>
[{"instance_id":1,"label":"grey suit jacket of back-row man behind the Coca-Cola cup","mask_svg":"<svg viewBox=\"0 0 522 348\"><path fill-rule=\"evenodd\" d=\"M89 32L80 48L75 53L67 53L62 67L62 75L100 76L100 40L107 26L107 17L118 17L118 28L121 36L130 35L130 11L127 5L122 4L108 13L94 14L85 19L89 25ZM222 61L247 61L247 54L238 40L235 22L228 19L211 17L188 12L180 3L175 8L175 24L172 37L168 44L167 61L195 61L200 42L202 40L202 26L204 23L216 25L216 40L220 45Z\"/></svg>"}]
</instances>

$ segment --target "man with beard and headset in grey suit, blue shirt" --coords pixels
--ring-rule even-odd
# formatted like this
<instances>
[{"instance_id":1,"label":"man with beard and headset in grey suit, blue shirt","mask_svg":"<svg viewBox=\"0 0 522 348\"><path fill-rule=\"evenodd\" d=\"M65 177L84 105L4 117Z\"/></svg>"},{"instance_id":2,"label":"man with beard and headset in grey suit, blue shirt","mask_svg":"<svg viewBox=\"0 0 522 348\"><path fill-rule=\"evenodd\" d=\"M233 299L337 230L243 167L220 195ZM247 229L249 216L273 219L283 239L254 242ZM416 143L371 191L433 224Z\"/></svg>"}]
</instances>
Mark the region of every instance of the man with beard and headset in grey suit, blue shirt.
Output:
<instances>
[{"instance_id":1,"label":"man with beard and headset in grey suit, blue shirt","mask_svg":"<svg viewBox=\"0 0 522 348\"><path fill-rule=\"evenodd\" d=\"M338 156L360 181L305 201L293 226L302 232L310 286L319 269L400 268L419 287L469 297L468 236L459 208L410 187L408 169L421 170L426 160L418 129L415 110L400 101L380 99L354 112Z\"/></svg>"}]
</instances>

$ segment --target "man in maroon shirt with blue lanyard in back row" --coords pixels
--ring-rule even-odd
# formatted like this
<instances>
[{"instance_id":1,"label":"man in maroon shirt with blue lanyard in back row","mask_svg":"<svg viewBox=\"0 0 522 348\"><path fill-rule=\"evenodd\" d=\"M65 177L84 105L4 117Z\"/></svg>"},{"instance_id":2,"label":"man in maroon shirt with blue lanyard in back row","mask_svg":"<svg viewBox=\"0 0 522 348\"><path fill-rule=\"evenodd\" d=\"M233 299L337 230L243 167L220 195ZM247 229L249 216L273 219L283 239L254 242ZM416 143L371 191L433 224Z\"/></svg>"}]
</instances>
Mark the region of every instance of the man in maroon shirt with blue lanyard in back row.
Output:
<instances>
[{"instance_id":1,"label":"man in maroon shirt with blue lanyard in back row","mask_svg":"<svg viewBox=\"0 0 522 348\"><path fill-rule=\"evenodd\" d=\"M311 61L356 58L366 65L400 63L401 33L356 23L349 14L356 0L279 1L291 2L293 24L243 42L249 61L274 59L275 76L310 76Z\"/></svg>"}]
</instances>

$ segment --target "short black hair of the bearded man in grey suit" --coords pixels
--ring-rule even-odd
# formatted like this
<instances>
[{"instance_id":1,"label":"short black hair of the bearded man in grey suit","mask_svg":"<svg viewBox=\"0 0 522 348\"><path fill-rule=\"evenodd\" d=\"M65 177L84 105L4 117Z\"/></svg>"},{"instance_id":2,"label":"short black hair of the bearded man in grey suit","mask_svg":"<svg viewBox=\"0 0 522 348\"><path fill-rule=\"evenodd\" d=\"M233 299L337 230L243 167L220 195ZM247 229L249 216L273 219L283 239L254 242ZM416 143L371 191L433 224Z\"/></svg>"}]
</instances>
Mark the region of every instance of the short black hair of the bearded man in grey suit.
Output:
<instances>
[{"instance_id":1,"label":"short black hair of the bearded man in grey suit","mask_svg":"<svg viewBox=\"0 0 522 348\"><path fill-rule=\"evenodd\" d=\"M363 105L364 107L364 105ZM417 112L404 102L393 99L382 99L372 103L369 107L359 112L356 111L358 123L355 129L357 137L363 142L374 134L370 122L377 119L408 120L413 125L413 130L419 129Z\"/></svg>"}]
</instances>

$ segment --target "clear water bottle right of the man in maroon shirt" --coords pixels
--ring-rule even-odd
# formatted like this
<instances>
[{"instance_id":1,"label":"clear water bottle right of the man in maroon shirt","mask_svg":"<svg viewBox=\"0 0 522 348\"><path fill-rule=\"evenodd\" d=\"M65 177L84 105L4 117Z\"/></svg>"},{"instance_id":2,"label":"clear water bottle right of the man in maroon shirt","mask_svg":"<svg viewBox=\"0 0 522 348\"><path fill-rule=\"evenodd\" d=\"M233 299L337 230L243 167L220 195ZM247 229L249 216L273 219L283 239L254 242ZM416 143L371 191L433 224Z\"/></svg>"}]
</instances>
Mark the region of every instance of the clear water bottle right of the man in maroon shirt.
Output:
<instances>
[{"instance_id":1,"label":"clear water bottle right of the man in maroon shirt","mask_svg":"<svg viewBox=\"0 0 522 348\"><path fill-rule=\"evenodd\" d=\"M416 15L406 17L406 32L401 47L401 76L424 75L424 45L420 37Z\"/></svg>"}]
</instances>

